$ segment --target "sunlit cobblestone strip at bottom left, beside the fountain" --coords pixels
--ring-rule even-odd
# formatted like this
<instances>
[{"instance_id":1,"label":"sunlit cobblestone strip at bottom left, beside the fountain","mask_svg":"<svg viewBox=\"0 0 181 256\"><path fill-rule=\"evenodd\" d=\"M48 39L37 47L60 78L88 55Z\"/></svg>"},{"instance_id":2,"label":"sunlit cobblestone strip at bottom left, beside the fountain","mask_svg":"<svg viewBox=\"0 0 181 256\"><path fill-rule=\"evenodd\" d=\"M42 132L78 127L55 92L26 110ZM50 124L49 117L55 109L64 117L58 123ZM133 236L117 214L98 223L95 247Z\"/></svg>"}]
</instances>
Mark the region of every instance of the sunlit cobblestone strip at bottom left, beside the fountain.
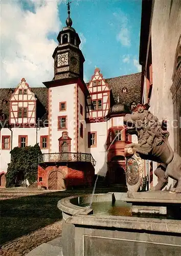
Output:
<instances>
[{"instance_id":1,"label":"sunlit cobblestone strip at bottom left, beside the fountain","mask_svg":"<svg viewBox=\"0 0 181 256\"><path fill-rule=\"evenodd\" d=\"M0 255L2 256L22 256L36 248L42 243L46 243L54 238L60 237L62 231L62 221L57 221L47 227L38 229L20 238L14 239L2 246Z\"/></svg>"}]
</instances>

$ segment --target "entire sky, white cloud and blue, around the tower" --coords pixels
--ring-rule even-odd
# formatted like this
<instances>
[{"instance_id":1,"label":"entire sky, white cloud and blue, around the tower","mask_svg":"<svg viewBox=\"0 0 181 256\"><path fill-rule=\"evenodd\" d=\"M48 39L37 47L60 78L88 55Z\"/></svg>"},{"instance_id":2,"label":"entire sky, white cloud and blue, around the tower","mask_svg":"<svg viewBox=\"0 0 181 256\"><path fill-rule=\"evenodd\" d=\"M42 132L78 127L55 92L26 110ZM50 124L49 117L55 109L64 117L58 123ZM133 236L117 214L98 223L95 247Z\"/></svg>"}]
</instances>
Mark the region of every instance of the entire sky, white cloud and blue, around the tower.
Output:
<instances>
[{"instance_id":1,"label":"entire sky, white cloud and blue, around the tower","mask_svg":"<svg viewBox=\"0 0 181 256\"><path fill-rule=\"evenodd\" d=\"M41 87L54 76L52 54L65 27L66 0L1 0L1 88L22 77ZM141 0L72 0L73 28L85 58L84 81L96 67L104 78L141 71Z\"/></svg>"}]
</instances>

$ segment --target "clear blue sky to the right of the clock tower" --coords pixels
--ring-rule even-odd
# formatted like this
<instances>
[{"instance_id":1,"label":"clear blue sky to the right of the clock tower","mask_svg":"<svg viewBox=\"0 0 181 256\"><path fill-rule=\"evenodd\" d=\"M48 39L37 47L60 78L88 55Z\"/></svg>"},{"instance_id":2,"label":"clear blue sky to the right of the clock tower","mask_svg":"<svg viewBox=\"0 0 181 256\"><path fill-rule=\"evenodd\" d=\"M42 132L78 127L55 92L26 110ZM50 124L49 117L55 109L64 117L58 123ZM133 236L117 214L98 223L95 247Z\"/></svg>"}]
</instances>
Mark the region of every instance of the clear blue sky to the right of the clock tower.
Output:
<instances>
[{"instance_id":1,"label":"clear blue sky to the right of the clock tower","mask_svg":"<svg viewBox=\"0 0 181 256\"><path fill-rule=\"evenodd\" d=\"M59 15L64 22L65 7L59 8ZM86 38L82 47L86 78L95 66L106 78L139 71L133 59L139 56L141 0L72 1L71 17L77 33ZM119 40L121 30L123 39Z\"/></svg>"}]
</instances>

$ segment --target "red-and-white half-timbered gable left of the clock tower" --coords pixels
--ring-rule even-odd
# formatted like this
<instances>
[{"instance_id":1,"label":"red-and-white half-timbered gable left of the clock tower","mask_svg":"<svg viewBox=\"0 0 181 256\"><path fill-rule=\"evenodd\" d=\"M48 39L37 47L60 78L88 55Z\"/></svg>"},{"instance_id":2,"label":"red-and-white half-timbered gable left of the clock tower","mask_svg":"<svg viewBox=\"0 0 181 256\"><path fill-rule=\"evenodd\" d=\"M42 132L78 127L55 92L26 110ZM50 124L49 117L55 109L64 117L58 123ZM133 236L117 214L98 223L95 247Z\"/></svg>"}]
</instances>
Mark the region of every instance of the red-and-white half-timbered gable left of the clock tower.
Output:
<instances>
[{"instance_id":1,"label":"red-and-white half-timbered gable left of the clock tower","mask_svg":"<svg viewBox=\"0 0 181 256\"><path fill-rule=\"evenodd\" d=\"M36 123L36 97L25 78L21 79L10 98L10 124Z\"/></svg>"}]
</instances>

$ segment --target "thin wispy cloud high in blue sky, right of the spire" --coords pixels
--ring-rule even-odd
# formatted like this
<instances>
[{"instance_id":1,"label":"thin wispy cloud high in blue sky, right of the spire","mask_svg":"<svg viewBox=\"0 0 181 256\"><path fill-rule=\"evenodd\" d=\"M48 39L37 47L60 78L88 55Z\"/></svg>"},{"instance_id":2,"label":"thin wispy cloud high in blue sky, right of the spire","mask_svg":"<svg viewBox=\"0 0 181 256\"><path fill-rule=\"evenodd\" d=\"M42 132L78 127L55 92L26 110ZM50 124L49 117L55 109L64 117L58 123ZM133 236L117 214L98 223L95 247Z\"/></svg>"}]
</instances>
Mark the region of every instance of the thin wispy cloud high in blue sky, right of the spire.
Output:
<instances>
[{"instance_id":1,"label":"thin wispy cloud high in blue sky, right of the spire","mask_svg":"<svg viewBox=\"0 0 181 256\"><path fill-rule=\"evenodd\" d=\"M113 15L116 17L117 22L121 26L120 32L117 34L117 40L120 41L123 46L130 47L130 27L128 25L129 20L127 16L122 11L119 13L113 13Z\"/></svg>"}]
</instances>

